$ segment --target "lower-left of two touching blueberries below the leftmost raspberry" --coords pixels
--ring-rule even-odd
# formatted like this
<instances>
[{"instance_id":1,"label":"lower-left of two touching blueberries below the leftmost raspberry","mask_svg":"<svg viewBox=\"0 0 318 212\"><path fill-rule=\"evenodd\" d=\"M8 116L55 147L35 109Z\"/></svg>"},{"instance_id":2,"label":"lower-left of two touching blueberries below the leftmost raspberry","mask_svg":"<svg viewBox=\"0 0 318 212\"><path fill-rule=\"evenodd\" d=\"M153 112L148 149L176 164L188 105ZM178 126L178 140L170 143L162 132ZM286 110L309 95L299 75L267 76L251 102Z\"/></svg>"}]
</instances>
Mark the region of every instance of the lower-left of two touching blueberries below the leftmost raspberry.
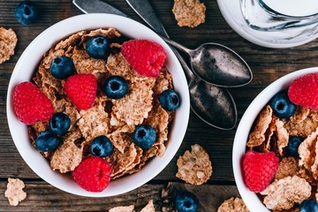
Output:
<instances>
[{"instance_id":1,"label":"lower-left of two touching blueberries below the leftmost raspberry","mask_svg":"<svg viewBox=\"0 0 318 212\"><path fill-rule=\"evenodd\" d=\"M61 140L57 137L57 134L49 131L39 133L39 136L35 140L35 148L41 152L49 152L58 147Z\"/></svg>"}]
</instances>

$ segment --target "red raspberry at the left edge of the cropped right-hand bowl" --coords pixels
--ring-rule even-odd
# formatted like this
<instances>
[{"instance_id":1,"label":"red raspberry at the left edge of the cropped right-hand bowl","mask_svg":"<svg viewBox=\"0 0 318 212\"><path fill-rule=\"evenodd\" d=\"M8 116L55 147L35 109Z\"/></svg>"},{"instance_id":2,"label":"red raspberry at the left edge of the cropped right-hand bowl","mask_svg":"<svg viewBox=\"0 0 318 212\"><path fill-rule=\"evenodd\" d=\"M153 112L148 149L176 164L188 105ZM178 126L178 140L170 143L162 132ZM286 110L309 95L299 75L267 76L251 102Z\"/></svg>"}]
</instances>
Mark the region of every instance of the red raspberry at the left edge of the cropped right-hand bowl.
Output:
<instances>
[{"instance_id":1,"label":"red raspberry at the left edge of the cropped right-hand bowl","mask_svg":"<svg viewBox=\"0 0 318 212\"><path fill-rule=\"evenodd\" d=\"M260 193L270 184L278 169L279 158L274 152L258 153L249 150L243 158L246 186Z\"/></svg>"}]
</instances>

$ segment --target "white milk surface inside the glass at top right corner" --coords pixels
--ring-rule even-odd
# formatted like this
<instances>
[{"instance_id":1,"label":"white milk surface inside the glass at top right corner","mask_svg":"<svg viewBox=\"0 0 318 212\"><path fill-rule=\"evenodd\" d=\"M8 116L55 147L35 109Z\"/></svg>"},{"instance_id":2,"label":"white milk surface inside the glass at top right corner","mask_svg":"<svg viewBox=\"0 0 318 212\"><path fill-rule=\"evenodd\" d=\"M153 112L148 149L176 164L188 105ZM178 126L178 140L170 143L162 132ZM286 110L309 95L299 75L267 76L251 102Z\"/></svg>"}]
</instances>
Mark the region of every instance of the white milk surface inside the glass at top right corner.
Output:
<instances>
[{"instance_id":1,"label":"white milk surface inside the glass at top right corner","mask_svg":"<svg viewBox=\"0 0 318 212\"><path fill-rule=\"evenodd\" d=\"M260 0L272 10L290 16L308 16L318 13L318 0Z\"/></svg>"}]
</instances>

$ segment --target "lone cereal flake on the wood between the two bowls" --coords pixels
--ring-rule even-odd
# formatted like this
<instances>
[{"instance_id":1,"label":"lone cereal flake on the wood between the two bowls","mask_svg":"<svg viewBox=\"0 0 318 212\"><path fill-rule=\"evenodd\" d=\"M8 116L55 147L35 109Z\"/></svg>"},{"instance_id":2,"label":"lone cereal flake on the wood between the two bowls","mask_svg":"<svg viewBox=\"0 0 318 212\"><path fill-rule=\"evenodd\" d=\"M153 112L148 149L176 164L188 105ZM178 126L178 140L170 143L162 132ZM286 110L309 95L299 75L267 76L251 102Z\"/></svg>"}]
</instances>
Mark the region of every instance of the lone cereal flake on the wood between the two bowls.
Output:
<instances>
[{"instance_id":1,"label":"lone cereal flake on the wood between the two bowls","mask_svg":"<svg viewBox=\"0 0 318 212\"><path fill-rule=\"evenodd\" d=\"M199 144L194 144L191 148L191 152L186 150L184 155L179 156L176 176L189 184L201 185L211 177L212 164L208 153Z\"/></svg>"}]
</instances>

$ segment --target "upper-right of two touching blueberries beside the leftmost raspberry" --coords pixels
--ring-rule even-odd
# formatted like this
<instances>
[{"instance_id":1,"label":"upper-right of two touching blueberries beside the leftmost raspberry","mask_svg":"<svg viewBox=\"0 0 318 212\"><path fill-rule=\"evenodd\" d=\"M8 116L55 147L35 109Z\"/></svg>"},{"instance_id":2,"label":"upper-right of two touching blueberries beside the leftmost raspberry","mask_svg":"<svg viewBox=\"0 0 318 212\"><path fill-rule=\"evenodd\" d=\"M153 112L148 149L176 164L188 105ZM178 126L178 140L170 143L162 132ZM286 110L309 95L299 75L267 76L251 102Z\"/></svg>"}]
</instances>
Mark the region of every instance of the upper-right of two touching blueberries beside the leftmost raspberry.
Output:
<instances>
[{"instance_id":1,"label":"upper-right of two touching blueberries beside the leftmost raspberry","mask_svg":"<svg viewBox=\"0 0 318 212\"><path fill-rule=\"evenodd\" d=\"M66 114L55 113L49 120L49 129L56 134L64 135L71 126L71 119Z\"/></svg>"}]
</instances>

